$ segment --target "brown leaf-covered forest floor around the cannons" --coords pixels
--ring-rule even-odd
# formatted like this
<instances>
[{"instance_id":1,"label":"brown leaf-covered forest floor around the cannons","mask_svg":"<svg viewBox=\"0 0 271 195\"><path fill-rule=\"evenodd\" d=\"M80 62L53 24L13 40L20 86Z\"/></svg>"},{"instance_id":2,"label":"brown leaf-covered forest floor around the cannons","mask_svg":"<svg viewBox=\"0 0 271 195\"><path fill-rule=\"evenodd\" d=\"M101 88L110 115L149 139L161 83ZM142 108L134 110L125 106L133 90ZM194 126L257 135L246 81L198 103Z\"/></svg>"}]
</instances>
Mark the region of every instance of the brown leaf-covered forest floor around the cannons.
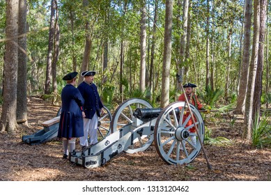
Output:
<instances>
[{"instance_id":1,"label":"brown leaf-covered forest floor around the cannons","mask_svg":"<svg viewBox=\"0 0 271 195\"><path fill-rule=\"evenodd\" d=\"M155 146L136 154L121 153L95 169L75 166L62 159L62 143L54 139L30 146L22 136L42 130L42 122L54 118L59 107L38 97L29 97L29 127L20 127L14 135L0 133L0 180L5 181L270 181L271 149L252 147L241 139L242 118L208 120L211 137L225 137L230 143L205 144L212 165L208 170L203 152L188 165L168 165L157 154ZM0 110L1 112L1 110ZM77 142L78 147L78 142Z\"/></svg>"}]
</instances>

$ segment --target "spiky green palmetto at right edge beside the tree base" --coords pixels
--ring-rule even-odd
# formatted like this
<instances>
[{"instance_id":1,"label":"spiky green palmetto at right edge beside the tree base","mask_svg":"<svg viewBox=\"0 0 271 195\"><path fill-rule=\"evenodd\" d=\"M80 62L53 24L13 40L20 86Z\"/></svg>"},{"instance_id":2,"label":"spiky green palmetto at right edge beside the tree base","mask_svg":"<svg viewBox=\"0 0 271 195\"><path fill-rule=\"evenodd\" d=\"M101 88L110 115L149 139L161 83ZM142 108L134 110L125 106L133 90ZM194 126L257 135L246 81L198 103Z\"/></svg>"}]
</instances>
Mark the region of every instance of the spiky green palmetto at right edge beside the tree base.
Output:
<instances>
[{"instance_id":1,"label":"spiky green palmetto at right edge beside the tree base","mask_svg":"<svg viewBox=\"0 0 271 195\"><path fill-rule=\"evenodd\" d=\"M271 124L270 114L257 114L252 123L252 144L257 148L271 146Z\"/></svg>"}]
</instances>

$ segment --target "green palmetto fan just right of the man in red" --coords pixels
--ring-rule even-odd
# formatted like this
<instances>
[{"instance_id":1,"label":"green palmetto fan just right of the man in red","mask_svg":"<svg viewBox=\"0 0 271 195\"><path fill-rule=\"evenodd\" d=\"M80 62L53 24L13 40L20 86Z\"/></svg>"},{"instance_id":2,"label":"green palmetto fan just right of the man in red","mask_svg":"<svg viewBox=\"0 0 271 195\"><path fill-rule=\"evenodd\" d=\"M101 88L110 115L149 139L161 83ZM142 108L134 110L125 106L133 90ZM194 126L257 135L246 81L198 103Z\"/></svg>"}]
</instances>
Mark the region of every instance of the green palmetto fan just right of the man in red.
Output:
<instances>
[{"instance_id":1,"label":"green palmetto fan just right of the man in red","mask_svg":"<svg viewBox=\"0 0 271 195\"><path fill-rule=\"evenodd\" d=\"M211 86L207 86L205 91L199 92L199 97L212 108L215 107L215 103L222 97L223 93L222 89L217 88L212 91Z\"/></svg>"}]
</instances>

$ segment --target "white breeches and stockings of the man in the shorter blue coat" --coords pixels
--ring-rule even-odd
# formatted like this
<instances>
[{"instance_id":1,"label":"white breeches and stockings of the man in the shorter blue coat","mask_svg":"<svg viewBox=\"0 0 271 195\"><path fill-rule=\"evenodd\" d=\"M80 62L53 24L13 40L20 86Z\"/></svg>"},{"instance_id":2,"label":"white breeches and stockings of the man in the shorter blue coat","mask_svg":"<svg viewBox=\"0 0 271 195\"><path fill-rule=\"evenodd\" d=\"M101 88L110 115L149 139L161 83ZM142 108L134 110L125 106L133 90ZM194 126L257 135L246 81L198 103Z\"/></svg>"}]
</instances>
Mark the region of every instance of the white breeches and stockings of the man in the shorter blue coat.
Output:
<instances>
[{"instance_id":1,"label":"white breeches and stockings of the man in the shorter blue coat","mask_svg":"<svg viewBox=\"0 0 271 195\"><path fill-rule=\"evenodd\" d=\"M88 134L90 136L91 145L98 142L97 127L98 127L97 113L94 114L92 119L84 118L84 137L79 137L81 146L88 146Z\"/></svg>"}]
</instances>

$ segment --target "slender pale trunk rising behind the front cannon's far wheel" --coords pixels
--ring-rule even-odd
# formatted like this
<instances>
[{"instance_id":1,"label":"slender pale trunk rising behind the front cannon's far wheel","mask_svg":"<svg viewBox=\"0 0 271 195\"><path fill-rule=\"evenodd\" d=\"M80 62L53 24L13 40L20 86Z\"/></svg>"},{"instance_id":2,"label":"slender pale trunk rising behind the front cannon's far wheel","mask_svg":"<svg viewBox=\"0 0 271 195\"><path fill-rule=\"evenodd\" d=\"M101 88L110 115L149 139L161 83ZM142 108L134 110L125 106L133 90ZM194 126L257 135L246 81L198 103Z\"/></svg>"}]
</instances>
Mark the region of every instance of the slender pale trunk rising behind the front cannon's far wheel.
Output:
<instances>
[{"instance_id":1,"label":"slender pale trunk rising behind the front cannon's far wheel","mask_svg":"<svg viewBox=\"0 0 271 195\"><path fill-rule=\"evenodd\" d=\"M141 5L141 22L140 22L140 77L139 89L145 91L146 88L146 1L143 0Z\"/></svg>"}]
</instances>

